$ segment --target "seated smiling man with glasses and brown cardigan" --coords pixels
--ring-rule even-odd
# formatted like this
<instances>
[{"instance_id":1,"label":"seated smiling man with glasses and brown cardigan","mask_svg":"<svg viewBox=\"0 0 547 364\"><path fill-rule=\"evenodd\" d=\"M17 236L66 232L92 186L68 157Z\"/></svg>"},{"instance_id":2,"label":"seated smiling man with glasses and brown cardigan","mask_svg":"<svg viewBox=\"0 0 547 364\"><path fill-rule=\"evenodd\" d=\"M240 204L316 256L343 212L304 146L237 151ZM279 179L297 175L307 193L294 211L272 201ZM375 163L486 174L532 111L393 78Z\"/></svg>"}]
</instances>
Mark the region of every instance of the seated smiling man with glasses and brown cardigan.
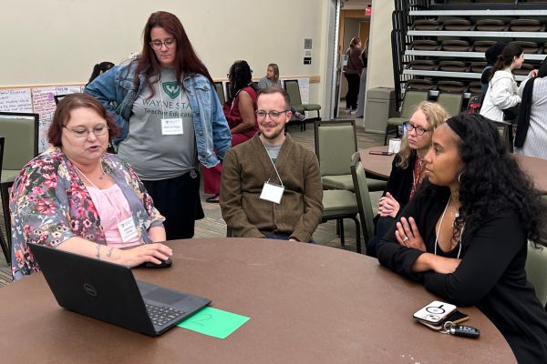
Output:
<instances>
[{"instance_id":1,"label":"seated smiling man with glasses and brown cardigan","mask_svg":"<svg viewBox=\"0 0 547 364\"><path fill-rule=\"evenodd\" d=\"M226 154L222 218L232 237L310 242L323 216L317 157L284 134L291 111L283 88L259 92L256 116L260 133Z\"/></svg>"}]
</instances>

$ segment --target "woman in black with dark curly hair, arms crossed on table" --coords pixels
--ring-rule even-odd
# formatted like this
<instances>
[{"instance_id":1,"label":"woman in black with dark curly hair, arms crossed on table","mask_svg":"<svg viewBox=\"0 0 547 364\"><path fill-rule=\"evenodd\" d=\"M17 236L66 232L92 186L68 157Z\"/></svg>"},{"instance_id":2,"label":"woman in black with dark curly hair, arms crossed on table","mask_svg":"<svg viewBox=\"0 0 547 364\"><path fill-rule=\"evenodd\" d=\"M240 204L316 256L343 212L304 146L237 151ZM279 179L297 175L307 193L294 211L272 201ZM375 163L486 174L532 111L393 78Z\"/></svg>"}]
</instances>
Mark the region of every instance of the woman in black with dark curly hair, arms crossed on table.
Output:
<instances>
[{"instance_id":1,"label":"woman in black with dark curly hair, arms crossed on table","mask_svg":"<svg viewBox=\"0 0 547 364\"><path fill-rule=\"evenodd\" d=\"M417 197L379 242L380 263L458 306L479 308L522 363L547 362L547 311L526 280L527 238L545 242L547 206L479 115L433 133Z\"/></svg>"}]
</instances>

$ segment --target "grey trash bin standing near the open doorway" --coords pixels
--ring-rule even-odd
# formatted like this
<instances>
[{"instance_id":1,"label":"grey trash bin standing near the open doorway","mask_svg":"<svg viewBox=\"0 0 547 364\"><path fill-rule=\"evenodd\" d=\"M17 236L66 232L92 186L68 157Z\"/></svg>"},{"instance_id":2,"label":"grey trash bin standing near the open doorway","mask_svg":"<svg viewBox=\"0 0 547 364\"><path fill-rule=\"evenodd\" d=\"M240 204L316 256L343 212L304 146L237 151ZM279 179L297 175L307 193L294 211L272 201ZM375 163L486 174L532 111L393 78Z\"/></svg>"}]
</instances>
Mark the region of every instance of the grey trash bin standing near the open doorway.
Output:
<instances>
[{"instance_id":1,"label":"grey trash bin standing near the open doorway","mask_svg":"<svg viewBox=\"0 0 547 364\"><path fill-rule=\"evenodd\" d=\"M366 93L365 131L384 134L387 119L394 116L397 116L395 89L389 87L369 89Z\"/></svg>"}]
</instances>

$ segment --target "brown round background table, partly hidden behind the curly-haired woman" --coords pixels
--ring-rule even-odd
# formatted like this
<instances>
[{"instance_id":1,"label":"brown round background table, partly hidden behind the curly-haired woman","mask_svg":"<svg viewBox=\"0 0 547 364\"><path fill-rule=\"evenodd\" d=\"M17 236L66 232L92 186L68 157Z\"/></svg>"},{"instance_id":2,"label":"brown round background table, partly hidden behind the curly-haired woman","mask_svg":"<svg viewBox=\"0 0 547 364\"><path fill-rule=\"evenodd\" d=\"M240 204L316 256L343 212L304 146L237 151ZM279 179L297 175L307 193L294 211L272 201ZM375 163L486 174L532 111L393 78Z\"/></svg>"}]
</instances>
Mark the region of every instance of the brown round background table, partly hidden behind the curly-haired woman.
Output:
<instances>
[{"instance_id":1,"label":"brown round background table, partly hidden behind the curly-haired woman","mask_svg":"<svg viewBox=\"0 0 547 364\"><path fill-rule=\"evenodd\" d=\"M366 176L387 180L391 173L391 156L378 156L370 154L370 151L387 152L387 146L368 147L359 150L361 163L366 171ZM535 187L547 194L547 160L513 154L521 168L532 177Z\"/></svg>"}]
</instances>

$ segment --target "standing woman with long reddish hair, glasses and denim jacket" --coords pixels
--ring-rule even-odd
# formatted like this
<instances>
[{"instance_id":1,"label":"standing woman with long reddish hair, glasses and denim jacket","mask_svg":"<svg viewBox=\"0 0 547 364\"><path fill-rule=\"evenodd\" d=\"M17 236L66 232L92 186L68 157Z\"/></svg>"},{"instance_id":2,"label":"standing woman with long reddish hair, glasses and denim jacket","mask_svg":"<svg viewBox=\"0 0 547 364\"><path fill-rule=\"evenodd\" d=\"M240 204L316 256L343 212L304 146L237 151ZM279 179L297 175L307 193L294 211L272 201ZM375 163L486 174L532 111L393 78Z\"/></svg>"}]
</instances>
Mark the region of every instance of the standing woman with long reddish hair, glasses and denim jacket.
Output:
<instances>
[{"instance_id":1,"label":"standing woman with long reddish hair, glasses and denim jacket","mask_svg":"<svg viewBox=\"0 0 547 364\"><path fill-rule=\"evenodd\" d=\"M198 160L219 165L231 146L230 128L179 18L150 15L143 38L139 58L98 76L86 92L115 115L119 157L166 218L167 238L192 238L195 219L203 217Z\"/></svg>"}]
</instances>

